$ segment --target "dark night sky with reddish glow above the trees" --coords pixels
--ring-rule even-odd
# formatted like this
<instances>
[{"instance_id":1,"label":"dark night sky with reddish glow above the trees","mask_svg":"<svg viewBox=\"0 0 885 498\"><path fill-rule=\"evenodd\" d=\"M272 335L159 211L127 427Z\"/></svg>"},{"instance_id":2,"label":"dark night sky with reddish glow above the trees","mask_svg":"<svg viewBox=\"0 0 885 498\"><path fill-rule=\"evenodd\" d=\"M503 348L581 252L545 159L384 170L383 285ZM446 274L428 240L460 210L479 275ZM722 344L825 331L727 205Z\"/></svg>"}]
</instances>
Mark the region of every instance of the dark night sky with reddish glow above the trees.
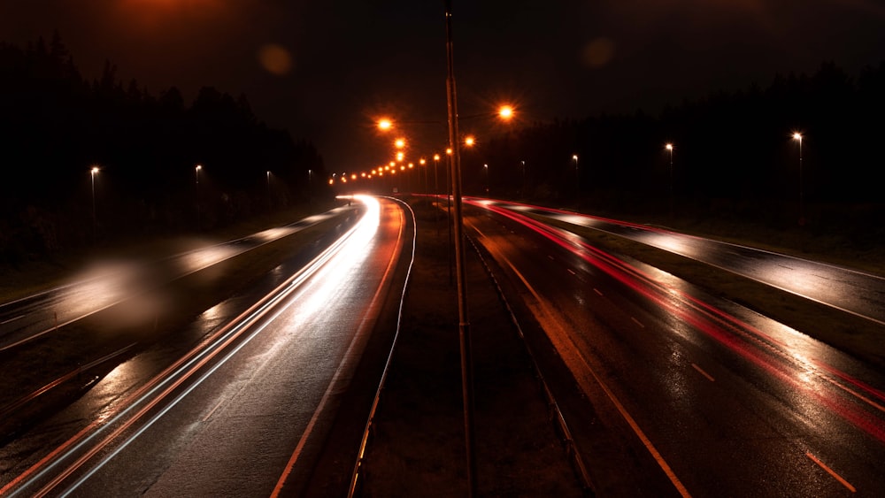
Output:
<instances>
[{"instance_id":1,"label":"dark night sky with reddish glow above the trees","mask_svg":"<svg viewBox=\"0 0 885 498\"><path fill-rule=\"evenodd\" d=\"M453 0L462 115L651 112L825 61L885 60L881 0ZM58 28L84 76L104 60L157 96L245 93L259 119L315 142L336 171L387 160L389 115L417 154L446 140L442 0L0 0L0 40ZM265 62L262 62L265 61ZM462 127L478 136L483 119Z\"/></svg>"}]
</instances>

